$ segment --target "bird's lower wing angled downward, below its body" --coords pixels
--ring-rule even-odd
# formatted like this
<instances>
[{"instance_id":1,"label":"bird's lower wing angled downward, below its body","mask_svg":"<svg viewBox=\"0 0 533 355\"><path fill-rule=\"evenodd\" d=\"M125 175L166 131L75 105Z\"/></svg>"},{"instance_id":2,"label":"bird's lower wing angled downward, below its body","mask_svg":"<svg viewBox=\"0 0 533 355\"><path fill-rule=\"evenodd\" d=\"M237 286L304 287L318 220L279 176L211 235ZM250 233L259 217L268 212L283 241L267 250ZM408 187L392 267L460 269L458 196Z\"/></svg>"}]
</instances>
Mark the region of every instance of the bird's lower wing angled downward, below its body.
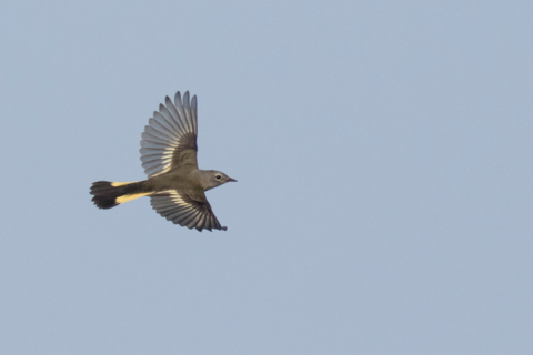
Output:
<instances>
[{"instance_id":1,"label":"bird's lower wing angled downward, below its body","mask_svg":"<svg viewBox=\"0 0 533 355\"><path fill-rule=\"evenodd\" d=\"M169 221L188 229L223 230L201 190L165 190L150 196L152 207Z\"/></svg>"}]
</instances>

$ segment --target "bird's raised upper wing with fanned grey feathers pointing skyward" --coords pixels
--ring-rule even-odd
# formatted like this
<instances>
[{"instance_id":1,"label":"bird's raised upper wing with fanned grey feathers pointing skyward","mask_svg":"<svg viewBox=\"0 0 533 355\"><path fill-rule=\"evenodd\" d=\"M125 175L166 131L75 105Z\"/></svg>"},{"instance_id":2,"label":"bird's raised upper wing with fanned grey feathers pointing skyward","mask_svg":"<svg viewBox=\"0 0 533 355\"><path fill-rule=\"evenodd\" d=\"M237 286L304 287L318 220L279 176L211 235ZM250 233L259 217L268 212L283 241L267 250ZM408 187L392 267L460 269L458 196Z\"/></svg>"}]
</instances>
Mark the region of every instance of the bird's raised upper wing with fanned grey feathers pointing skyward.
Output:
<instances>
[{"instance_id":1,"label":"bird's raised upper wing with fanned grey feathers pointing skyward","mask_svg":"<svg viewBox=\"0 0 533 355\"><path fill-rule=\"evenodd\" d=\"M159 105L159 111L153 112L142 133L141 161L149 178L180 166L198 168L197 95L189 102L187 91L182 102L178 91L174 103L169 97L164 102L164 105Z\"/></svg>"}]
</instances>

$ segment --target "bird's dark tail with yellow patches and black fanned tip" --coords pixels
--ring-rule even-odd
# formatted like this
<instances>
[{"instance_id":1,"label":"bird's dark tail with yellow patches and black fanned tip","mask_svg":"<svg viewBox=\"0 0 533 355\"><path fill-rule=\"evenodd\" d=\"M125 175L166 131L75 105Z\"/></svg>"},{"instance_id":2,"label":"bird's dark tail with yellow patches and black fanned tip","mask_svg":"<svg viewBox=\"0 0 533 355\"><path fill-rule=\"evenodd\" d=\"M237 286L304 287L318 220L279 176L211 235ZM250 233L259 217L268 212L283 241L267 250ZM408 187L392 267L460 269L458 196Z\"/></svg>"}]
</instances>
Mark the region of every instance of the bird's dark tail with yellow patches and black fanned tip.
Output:
<instances>
[{"instance_id":1,"label":"bird's dark tail with yellow patches and black fanned tip","mask_svg":"<svg viewBox=\"0 0 533 355\"><path fill-rule=\"evenodd\" d=\"M92 202L99 209L112 209L121 203L152 194L152 192L147 192L143 187L144 181L97 181L91 186L91 195L94 195Z\"/></svg>"}]
</instances>

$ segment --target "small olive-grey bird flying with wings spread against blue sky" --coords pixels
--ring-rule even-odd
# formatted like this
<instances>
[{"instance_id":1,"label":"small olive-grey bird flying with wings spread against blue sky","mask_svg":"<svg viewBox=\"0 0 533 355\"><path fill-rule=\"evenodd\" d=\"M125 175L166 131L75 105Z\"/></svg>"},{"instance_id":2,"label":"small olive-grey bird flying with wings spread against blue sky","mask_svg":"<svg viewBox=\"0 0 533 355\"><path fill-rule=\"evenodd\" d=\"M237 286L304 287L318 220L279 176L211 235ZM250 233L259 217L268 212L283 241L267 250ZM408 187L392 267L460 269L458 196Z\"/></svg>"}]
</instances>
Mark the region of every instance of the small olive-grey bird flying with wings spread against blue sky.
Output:
<instances>
[{"instance_id":1,"label":"small olive-grey bird flying with wings spread against blue sky","mask_svg":"<svg viewBox=\"0 0 533 355\"><path fill-rule=\"evenodd\" d=\"M205 191L237 182L217 170L200 170L197 161L198 100L183 100L178 91L174 102L153 112L141 139L141 162L148 179L134 182L97 181L92 183L92 202L102 210L142 196L150 196L152 207L161 216L188 229L227 231L211 210Z\"/></svg>"}]
</instances>

